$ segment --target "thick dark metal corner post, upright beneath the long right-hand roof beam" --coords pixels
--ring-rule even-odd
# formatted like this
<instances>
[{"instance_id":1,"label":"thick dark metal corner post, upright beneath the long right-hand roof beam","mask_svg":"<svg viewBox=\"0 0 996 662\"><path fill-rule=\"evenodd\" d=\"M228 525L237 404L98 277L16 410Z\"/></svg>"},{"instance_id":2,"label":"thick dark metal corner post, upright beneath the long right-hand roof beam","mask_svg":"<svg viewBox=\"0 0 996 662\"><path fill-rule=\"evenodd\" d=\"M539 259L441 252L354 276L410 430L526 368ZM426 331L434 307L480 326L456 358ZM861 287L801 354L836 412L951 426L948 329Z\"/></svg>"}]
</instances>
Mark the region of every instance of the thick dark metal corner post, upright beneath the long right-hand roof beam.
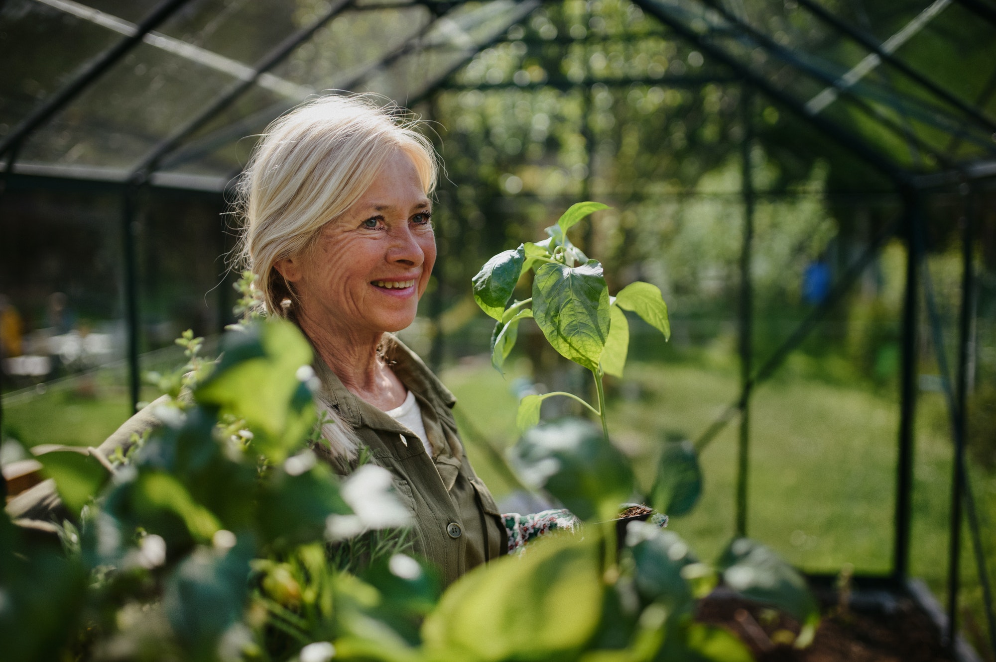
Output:
<instances>
[{"instance_id":1,"label":"thick dark metal corner post, upright beneath the long right-hand roof beam","mask_svg":"<svg viewBox=\"0 0 996 662\"><path fill-rule=\"evenodd\" d=\"M919 192L903 189L906 240L906 291L902 304L902 370L899 377L899 449L896 462L892 578L903 585L909 576L909 528L913 488L913 441L916 418L917 330L921 250Z\"/></svg>"}]
</instances>

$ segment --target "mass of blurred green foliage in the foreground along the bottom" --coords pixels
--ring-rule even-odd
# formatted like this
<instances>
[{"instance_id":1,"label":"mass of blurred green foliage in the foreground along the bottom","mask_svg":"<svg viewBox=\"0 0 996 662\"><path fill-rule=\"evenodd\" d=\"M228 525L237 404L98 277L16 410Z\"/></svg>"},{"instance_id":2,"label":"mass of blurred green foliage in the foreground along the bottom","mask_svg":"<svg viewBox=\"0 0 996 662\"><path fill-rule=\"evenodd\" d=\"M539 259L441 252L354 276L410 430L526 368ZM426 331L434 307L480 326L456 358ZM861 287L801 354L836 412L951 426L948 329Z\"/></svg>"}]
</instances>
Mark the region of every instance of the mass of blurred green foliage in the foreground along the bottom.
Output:
<instances>
[{"instance_id":1,"label":"mass of blurred green foliage in the foreground along the bottom","mask_svg":"<svg viewBox=\"0 0 996 662\"><path fill-rule=\"evenodd\" d=\"M214 363L192 340L179 369L192 400L156 405L165 424L116 466L98 464L103 489L83 499L84 485L101 482L90 469L48 463L64 499L85 501L59 527L65 550L0 518L0 635L16 659L749 658L725 631L691 619L722 566L698 563L654 525L630 524L617 541L615 526L598 524L604 504L631 493L632 476L585 421L537 427L518 450L546 463L539 485L592 518L583 535L542 541L445 592L396 545L374 546L355 574L339 570L330 559L343 541L329 523L355 509L307 447L307 341L289 323L256 323L229 331ZM261 394L267 407L252 408ZM362 471L383 470L365 465L346 480ZM750 545L736 587L800 622L817 617L798 574Z\"/></svg>"}]
</instances>

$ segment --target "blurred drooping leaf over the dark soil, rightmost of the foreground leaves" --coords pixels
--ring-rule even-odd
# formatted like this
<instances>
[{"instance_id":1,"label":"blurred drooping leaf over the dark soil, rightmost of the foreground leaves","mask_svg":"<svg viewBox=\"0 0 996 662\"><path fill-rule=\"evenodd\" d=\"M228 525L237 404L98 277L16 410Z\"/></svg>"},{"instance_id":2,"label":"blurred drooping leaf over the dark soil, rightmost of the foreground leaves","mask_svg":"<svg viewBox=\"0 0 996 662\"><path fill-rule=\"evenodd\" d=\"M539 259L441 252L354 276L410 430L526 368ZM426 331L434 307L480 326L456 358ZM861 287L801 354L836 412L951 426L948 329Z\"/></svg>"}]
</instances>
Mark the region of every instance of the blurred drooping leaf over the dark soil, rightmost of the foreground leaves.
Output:
<instances>
[{"instance_id":1,"label":"blurred drooping leaf over the dark soil, rightmost of the foreground leaves","mask_svg":"<svg viewBox=\"0 0 996 662\"><path fill-rule=\"evenodd\" d=\"M750 599L776 606L802 623L804 629L815 631L820 609L806 579L770 548L738 538L726 548L716 566L730 588ZM803 634L800 633L800 638ZM797 640L797 645L806 643Z\"/></svg>"}]
</instances>

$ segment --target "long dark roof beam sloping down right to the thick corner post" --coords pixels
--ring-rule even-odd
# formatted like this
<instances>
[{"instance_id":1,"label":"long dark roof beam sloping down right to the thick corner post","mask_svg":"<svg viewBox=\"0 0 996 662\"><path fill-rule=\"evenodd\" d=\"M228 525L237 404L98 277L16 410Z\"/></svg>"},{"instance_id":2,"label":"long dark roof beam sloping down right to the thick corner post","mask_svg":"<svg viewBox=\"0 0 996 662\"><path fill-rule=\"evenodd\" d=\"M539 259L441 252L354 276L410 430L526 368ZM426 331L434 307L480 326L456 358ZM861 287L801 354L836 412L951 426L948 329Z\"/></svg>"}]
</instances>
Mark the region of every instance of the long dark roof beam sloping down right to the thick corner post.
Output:
<instances>
[{"instance_id":1,"label":"long dark roof beam sloping down right to the thick corner post","mask_svg":"<svg viewBox=\"0 0 996 662\"><path fill-rule=\"evenodd\" d=\"M902 170L897 164L895 164L891 159L884 156L877 150L871 148L869 144L863 140L860 136L853 134L851 131L845 129L840 124L833 122L831 120L825 119L818 115L813 115L806 110L806 107L800 102L799 99L792 96L788 92L779 89L768 81L763 76L755 73L750 68L746 67L741 63L735 56L727 52L725 49L709 43L706 41L702 35L699 35L690 26L685 25L682 21L678 20L676 17L672 16L670 13L666 12L661 8L655 0L632 0L633 4L638 6L644 12L654 16L657 20L661 21L667 26L670 26L675 32L680 34L685 40L694 44L696 48L701 49L703 52L708 54L710 57L715 58L717 61L722 62L731 70L736 72L745 81L754 84L758 89L763 91L767 96L778 101L785 107L792 110L803 120L810 123L816 129L826 134L833 140L839 142L842 146L847 148L853 154L855 154L862 161L871 165L875 170L885 175L895 184L905 184L910 181L908 173Z\"/></svg>"}]
</instances>

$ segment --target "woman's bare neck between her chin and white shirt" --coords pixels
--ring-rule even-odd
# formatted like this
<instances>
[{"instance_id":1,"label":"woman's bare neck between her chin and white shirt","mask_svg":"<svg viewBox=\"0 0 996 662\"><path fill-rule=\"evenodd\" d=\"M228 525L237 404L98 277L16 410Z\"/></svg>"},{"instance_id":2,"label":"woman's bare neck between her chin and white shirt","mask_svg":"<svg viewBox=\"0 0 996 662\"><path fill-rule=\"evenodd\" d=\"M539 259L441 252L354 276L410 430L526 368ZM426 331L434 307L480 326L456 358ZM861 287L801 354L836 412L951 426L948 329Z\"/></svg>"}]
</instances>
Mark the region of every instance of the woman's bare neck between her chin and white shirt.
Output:
<instances>
[{"instance_id":1,"label":"woman's bare neck between her chin and white shirt","mask_svg":"<svg viewBox=\"0 0 996 662\"><path fill-rule=\"evenodd\" d=\"M310 316L304 307L297 322L350 393L385 412L401 406L407 393L404 385L377 354L382 332L349 332L331 320Z\"/></svg>"}]
</instances>

